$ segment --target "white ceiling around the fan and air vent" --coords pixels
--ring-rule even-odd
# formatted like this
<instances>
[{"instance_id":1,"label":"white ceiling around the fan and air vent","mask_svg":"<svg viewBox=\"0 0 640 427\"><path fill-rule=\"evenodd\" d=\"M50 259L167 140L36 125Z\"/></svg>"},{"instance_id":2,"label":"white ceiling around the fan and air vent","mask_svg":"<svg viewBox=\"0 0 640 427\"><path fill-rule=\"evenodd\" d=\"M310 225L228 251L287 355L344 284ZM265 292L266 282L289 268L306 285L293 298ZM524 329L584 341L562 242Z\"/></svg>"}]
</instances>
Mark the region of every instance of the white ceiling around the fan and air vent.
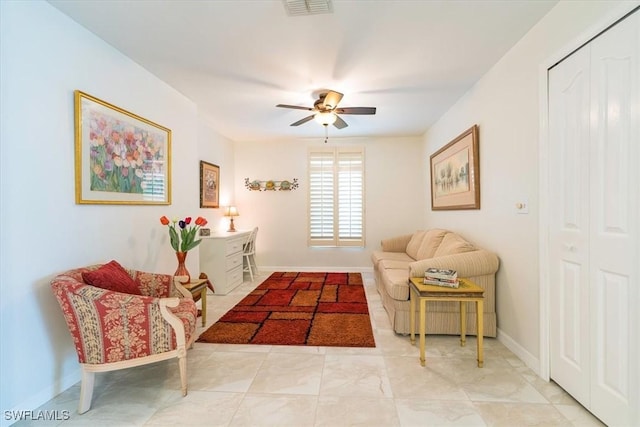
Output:
<instances>
[{"instance_id":1,"label":"white ceiling around the fan and air vent","mask_svg":"<svg viewBox=\"0 0 640 427\"><path fill-rule=\"evenodd\" d=\"M314 121L289 126L306 111L275 107L312 106L319 89L377 107L330 137L422 135L557 0L334 0L309 16L280 0L50 3L248 141L323 138Z\"/></svg>"}]
</instances>

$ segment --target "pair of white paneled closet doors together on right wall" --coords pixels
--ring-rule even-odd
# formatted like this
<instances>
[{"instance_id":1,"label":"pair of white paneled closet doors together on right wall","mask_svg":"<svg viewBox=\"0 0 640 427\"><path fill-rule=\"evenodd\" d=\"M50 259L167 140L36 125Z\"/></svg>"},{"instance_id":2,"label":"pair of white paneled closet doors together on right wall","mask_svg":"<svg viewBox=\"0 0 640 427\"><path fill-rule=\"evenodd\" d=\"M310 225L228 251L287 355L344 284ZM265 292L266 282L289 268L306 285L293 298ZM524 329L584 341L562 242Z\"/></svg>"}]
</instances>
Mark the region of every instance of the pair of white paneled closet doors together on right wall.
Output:
<instances>
[{"instance_id":1,"label":"pair of white paneled closet doors together on right wall","mask_svg":"<svg viewBox=\"0 0 640 427\"><path fill-rule=\"evenodd\" d=\"M549 72L551 378L640 416L640 13Z\"/></svg>"}]
</instances>

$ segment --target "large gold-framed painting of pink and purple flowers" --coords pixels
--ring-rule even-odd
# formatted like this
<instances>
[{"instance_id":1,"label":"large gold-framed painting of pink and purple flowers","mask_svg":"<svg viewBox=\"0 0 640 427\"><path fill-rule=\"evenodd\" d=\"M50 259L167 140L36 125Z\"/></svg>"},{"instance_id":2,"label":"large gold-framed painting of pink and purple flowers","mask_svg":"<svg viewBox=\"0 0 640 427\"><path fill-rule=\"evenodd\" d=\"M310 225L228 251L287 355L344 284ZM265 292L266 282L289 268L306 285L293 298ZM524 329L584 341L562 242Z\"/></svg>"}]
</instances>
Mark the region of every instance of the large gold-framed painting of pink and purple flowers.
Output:
<instances>
[{"instance_id":1,"label":"large gold-framed painting of pink and purple flowers","mask_svg":"<svg viewBox=\"0 0 640 427\"><path fill-rule=\"evenodd\" d=\"M76 203L170 205L171 130L74 95Z\"/></svg>"}]
</instances>

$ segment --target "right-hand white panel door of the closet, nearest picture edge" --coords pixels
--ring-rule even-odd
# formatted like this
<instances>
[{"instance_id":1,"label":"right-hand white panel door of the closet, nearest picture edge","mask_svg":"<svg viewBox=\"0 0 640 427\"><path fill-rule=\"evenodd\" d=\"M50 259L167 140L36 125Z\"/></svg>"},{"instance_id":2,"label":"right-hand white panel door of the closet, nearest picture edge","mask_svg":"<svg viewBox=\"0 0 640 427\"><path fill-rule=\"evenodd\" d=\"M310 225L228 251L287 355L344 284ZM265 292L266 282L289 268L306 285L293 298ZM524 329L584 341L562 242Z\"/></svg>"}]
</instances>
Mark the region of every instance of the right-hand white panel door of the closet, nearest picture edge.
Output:
<instances>
[{"instance_id":1,"label":"right-hand white panel door of the closet, nearest picture edge","mask_svg":"<svg viewBox=\"0 0 640 427\"><path fill-rule=\"evenodd\" d=\"M631 425L640 382L639 40L636 13L591 43L591 408L609 425Z\"/></svg>"}]
</instances>

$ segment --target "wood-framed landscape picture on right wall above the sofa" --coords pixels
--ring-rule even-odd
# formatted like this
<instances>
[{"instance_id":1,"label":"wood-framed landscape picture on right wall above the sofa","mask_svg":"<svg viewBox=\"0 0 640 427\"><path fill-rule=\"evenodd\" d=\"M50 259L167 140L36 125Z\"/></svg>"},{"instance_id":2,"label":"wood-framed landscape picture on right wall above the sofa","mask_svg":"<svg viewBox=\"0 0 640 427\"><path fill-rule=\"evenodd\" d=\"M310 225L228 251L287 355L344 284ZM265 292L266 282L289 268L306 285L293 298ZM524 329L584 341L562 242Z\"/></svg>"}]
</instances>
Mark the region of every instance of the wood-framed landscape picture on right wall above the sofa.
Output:
<instances>
[{"instance_id":1,"label":"wood-framed landscape picture on right wall above the sofa","mask_svg":"<svg viewBox=\"0 0 640 427\"><path fill-rule=\"evenodd\" d=\"M431 155L431 209L480 209L477 125Z\"/></svg>"}]
</instances>

